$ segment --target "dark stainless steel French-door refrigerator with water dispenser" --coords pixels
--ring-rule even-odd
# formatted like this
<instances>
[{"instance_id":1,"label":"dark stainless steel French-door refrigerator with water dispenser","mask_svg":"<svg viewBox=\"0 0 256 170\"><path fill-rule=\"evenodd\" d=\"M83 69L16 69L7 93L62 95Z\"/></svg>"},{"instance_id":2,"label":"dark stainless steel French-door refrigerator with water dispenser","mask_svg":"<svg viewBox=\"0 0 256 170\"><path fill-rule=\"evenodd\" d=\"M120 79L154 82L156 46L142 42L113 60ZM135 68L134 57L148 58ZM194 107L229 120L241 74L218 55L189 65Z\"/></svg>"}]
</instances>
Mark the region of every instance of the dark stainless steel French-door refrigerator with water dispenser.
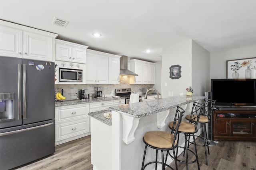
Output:
<instances>
[{"instance_id":1,"label":"dark stainless steel French-door refrigerator with water dispenser","mask_svg":"<svg viewBox=\"0 0 256 170\"><path fill-rule=\"evenodd\" d=\"M0 57L0 169L55 152L54 63Z\"/></svg>"}]
</instances>

